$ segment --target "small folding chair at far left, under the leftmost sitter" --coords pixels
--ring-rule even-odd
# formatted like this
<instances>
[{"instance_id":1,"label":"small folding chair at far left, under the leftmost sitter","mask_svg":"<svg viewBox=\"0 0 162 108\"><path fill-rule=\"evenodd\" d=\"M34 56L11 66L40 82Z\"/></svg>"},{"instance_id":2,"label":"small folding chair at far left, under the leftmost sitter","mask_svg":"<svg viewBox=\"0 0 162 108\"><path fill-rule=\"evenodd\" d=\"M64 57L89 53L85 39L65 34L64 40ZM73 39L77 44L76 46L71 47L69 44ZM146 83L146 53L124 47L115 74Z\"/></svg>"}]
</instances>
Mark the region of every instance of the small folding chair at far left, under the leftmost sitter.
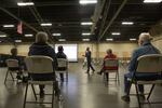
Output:
<instances>
[{"instance_id":1,"label":"small folding chair at far left, under the leftmost sitter","mask_svg":"<svg viewBox=\"0 0 162 108\"><path fill-rule=\"evenodd\" d=\"M19 65L18 65L18 60L17 59L6 59L6 66L8 66L8 71L5 73L5 79L4 79L4 83L6 82L8 80L8 77L9 77L9 73L12 78L12 81L14 81L16 78L14 78L13 73L18 73L21 72L21 68L19 68ZM18 80L17 80L18 81Z\"/></svg>"}]
</instances>

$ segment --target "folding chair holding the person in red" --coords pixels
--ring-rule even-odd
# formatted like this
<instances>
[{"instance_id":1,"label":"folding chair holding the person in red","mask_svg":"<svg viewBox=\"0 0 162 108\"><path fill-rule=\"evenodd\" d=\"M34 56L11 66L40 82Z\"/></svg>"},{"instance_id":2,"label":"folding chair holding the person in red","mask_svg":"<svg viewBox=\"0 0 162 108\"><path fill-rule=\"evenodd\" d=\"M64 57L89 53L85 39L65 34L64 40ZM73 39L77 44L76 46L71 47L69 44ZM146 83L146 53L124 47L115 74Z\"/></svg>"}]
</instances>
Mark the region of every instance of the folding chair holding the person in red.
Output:
<instances>
[{"instance_id":1,"label":"folding chair holding the person in red","mask_svg":"<svg viewBox=\"0 0 162 108\"><path fill-rule=\"evenodd\" d=\"M106 73L108 73L108 81L109 79L114 79L116 81L120 82L119 80L119 60L117 58L106 58L104 60L104 78ZM109 73L116 73L116 78L109 78Z\"/></svg>"}]
</instances>

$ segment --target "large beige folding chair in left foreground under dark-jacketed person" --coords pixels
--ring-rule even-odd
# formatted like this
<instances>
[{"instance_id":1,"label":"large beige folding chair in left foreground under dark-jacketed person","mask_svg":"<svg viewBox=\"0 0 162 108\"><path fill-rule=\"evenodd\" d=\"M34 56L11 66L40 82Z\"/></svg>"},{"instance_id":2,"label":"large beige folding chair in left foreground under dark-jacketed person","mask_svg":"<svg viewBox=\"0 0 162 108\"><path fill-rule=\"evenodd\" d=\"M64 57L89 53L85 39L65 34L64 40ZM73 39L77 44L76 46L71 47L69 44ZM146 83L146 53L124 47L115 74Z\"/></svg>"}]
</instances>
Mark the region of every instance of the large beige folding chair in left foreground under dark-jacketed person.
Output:
<instances>
[{"instance_id":1,"label":"large beige folding chair in left foreground under dark-jacketed person","mask_svg":"<svg viewBox=\"0 0 162 108\"><path fill-rule=\"evenodd\" d=\"M44 75L45 73L52 73L54 75L54 70L53 70L53 65L52 62L53 59L51 57L48 56L29 56L26 57L25 59L26 62L26 66L27 66L27 71L29 75L35 75L35 76L39 76L39 75ZM54 93L55 93L55 84L56 84L56 79L55 76L53 78L50 79L32 79L32 77L28 80L28 83L26 84L26 91L25 91L25 98L24 98L24 108L26 106L26 103L28 104L52 104L52 108L54 106ZM37 94L35 91L33 85L39 85L39 84L44 84L44 85L52 85L52 94L48 94L48 95L52 95L52 100L51 102L37 102ZM35 94L35 98L36 102L27 102L27 93L28 93L28 85L31 85L31 89L33 91ZM45 94L46 95L46 94Z\"/></svg>"}]
</instances>

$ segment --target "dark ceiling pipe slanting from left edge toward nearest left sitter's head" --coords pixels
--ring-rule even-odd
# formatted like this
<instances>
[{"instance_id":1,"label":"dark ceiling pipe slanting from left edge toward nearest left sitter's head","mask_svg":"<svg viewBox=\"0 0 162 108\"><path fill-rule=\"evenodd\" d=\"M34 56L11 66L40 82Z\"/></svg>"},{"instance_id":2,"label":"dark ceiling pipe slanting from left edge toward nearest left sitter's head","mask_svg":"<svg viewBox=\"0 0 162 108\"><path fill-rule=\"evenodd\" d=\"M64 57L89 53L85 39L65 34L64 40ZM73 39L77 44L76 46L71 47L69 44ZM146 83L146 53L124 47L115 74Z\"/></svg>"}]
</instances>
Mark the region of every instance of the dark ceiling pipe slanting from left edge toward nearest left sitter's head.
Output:
<instances>
[{"instance_id":1,"label":"dark ceiling pipe slanting from left edge toward nearest left sitter's head","mask_svg":"<svg viewBox=\"0 0 162 108\"><path fill-rule=\"evenodd\" d=\"M13 18L15 18L15 19L22 22L25 26L29 27L29 28L32 29L33 31L38 32L38 30L37 30L35 27L30 26L28 23L26 23L25 21L21 19L21 18L17 17L16 15L12 14L12 13L9 12L8 10L5 10L5 9L3 9L3 8L1 8L1 6L0 6L0 10L3 11L3 12L5 12L5 13L9 14L10 16L12 16Z\"/></svg>"}]
</instances>

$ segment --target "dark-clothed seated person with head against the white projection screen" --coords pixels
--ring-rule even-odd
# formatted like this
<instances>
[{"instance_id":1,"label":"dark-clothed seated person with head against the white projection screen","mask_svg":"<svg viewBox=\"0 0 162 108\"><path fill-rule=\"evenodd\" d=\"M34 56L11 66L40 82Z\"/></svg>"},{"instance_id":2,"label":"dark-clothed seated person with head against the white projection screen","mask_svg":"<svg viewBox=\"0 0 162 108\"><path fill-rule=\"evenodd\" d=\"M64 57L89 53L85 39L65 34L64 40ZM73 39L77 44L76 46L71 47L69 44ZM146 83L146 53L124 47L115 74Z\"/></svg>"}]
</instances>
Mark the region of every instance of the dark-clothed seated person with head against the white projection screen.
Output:
<instances>
[{"instance_id":1,"label":"dark-clothed seated person with head against the white projection screen","mask_svg":"<svg viewBox=\"0 0 162 108\"><path fill-rule=\"evenodd\" d=\"M56 54L56 58L67 58L66 54L64 53L63 45L58 46L58 52ZM65 70L65 67L57 67L57 70ZM64 82L64 73L59 73L60 81Z\"/></svg>"}]
</instances>

